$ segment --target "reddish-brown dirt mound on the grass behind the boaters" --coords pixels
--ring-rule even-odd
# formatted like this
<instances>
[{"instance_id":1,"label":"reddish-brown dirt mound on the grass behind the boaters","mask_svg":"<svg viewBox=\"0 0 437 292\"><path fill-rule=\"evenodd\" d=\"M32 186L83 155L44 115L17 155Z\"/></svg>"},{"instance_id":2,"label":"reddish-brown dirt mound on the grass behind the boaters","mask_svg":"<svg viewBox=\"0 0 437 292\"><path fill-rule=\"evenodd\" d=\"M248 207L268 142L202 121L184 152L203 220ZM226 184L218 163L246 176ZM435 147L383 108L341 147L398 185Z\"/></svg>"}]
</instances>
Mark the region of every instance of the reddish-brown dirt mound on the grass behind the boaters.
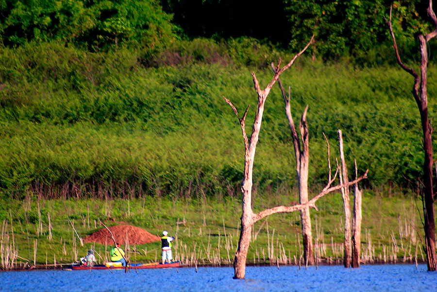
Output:
<instances>
[{"instance_id":1,"label":"reddish-brown dirt mound on the grass behind the boaters","mask_svg":"<svg viewBox=\"0 0 437 292\"><path fill-rule=\"evenodd\" d=\"M116 242L125 244L126 239L130 245L145 244L161 240L158 236L147 232L144 229L131 225L116 225L108 227ZM106 228L100 229L85 237L85 242L98 242L101 244L114 245L111 234Z\"/></svg>"}]
</instances>

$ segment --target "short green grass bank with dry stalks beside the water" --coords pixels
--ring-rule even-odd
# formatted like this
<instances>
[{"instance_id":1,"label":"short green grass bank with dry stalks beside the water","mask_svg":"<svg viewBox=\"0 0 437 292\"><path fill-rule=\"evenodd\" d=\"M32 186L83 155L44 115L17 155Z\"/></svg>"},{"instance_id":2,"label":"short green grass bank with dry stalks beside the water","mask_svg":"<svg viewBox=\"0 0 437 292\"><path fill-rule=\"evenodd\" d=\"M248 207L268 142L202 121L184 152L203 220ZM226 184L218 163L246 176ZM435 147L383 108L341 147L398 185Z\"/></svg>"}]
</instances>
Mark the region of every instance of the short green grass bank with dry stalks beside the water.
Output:
<instances>
[{"instance_id":1,"label":"short green grass bank with dry stalks beside the water","mask_svg":"<svg viewBox=\"0 0 437 292\"><path fill-rule=\"evenodd\" d=\"M288 196L277 192L257 194L253 199L253 208L259 211L262 208L297 200L295 189L290 190ZM402 261L405 253L406 257L410 256L414 261L416 244L419 244L420 248L419 240L422 233L415 204L411 197L399 194L384 196L365 191L362 254L366 255L370 250L374 253L374 260L382 261L384 245L387 246L388 257L388 248L393 248L392 238L395 238L397 261ZM131 224L157 235L160 235L164 229L168 230L170 235L177 236L173 248L177 259L191 264L193 259L199 264L230 264L239 238L241 203L235 197L217 196L205 200L194 197L145 196L129 200L128 204L126 199L37 200L29 196L24 201L2 201L1 205L5 236L9 235L11 244L13 238L20 257L18 261L22 263L29 260L29 263L33 264L35 241L37 241L36 264L40 265L46 264L46 261L53 264L55 258L57 264L75 262L86 255L86 251L91 247L96 250L100 263L104 258L108 258L112 244L106 247L98 243L85 243L81 246L69 221L74 223L76 231L82 238L103 228L99 220L105 225ZM329 194L321 198L316 205L319 211L312 210L311 217L313 240L319 244L319 257L323 258L321 259L323 262L327 262L330 257L340 260L342 257L340 246L344 236L341 195ZM42 232L39 233L38 214L43 225ZM48 214L52 225L51 240L49 240ZM267 220L255 223L253 236L254 234L257 234L257 237L256 240L252 237L248 253L249 264L253 263L254 256L255 263L258 263L258 257L260 263L275 263L276 257L280 258L281 253L278 251L281 250L282 254L285 251L286 257L291 258L288 262L294 263L294 257L299 259L300 252L303 251L302 243L298 240L302 241L302 235L300 215L297 212L274 214ZM5 236L2 239L5 239ZM332 246L331 242L335 245ZM272 259L268 255L271 246L274 251ZM128 249L127 257L132 262L135 260L148 262L160 258L159 242L138 245L135 248L138 251L136 254L132 253L132 246ZM320 252L320 250L324 251ZM420 251L418 255L418 259L421 260Z\"/></svg>"}]
</instances>

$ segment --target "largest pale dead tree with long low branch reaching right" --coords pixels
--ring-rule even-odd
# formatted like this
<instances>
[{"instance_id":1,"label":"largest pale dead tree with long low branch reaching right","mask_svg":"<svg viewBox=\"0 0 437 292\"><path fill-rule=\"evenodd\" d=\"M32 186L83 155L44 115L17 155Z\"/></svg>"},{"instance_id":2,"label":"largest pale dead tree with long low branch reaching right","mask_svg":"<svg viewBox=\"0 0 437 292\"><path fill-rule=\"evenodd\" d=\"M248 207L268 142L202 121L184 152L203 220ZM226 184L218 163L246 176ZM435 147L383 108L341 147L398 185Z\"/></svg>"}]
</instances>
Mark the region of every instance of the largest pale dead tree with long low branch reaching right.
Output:
<instances>
[{"instance_id":1,"label":"largest pale dead tree with long low branch reaching right","mask_svg":"<svg viewBox=\"0 0 437 292\"><path fill-rule=\"evenodd\" d=\"M314 37L314 36L313 36ZM312 40L313 38L311 38ZM255 148L256 144L258 142L259 138L259 131L261 129L261 122L264 112L264 104L266 102L267 96L269 95L271 87L275 84L275 82L278 80L279 76L282 72L284 72L286 69L288 69L296 60L298 56L300 56L310 45L311 41L306 45L306 47L296 54L293 59L284 67L280 67L281 61L279 61L278 65L275 67L275 74L270 81L269 85L266 86L264 90L262 90L259 86L258 80L256 79L255 74L252 72L252 79L255 86L255 90L258 94L258 108L255 113L255 120L253 122L252 126L252 135L250 139L247 137L246 131L245 131L245 120L247 116L247 112L249 107L246 108L246 111L243 114L243 117L240 118L238 116L238 111L235 108L234 104L231 103L228 99L223 97L225 101L232 107L234 110L235 115L237 116L242 134L243 134L243 140L244 140L244 149L245 149L245 155L244 155L244 173L243 173L243 181L241 183L241 193L242 193L242 214L241 214L241 230L240 230L240 238L238 240L238 248L235 253L234 258L234 278L236 279L243 279L246 273L246 258L247 258L247 252L249 250L249 243L251 240L251 230L252 226L255 222L258 220L269 216L274 213L285 213L285 212L294 212L298 210L302 210L306 207L312 207L316 208L316 201L323 197L324 195L344 188L345 186L351 186L358 181L361 181L364 178L367 178L367 171L360 176L358 179L350 182L349 184L340 184L335 187L331 187L331 184L334 182L336 175L332 180L328 182L328 184L325 186L325 188L314 198L309 200L305 204L298 204L294 206L275 206L269 209L265 209L259 213L253 213L252 211L252 171L253 171L253 161L255 157ZM338 172L338 168L337 168ZM336 172L336 173L337 173Z\"/></svg>"}]
</instances>

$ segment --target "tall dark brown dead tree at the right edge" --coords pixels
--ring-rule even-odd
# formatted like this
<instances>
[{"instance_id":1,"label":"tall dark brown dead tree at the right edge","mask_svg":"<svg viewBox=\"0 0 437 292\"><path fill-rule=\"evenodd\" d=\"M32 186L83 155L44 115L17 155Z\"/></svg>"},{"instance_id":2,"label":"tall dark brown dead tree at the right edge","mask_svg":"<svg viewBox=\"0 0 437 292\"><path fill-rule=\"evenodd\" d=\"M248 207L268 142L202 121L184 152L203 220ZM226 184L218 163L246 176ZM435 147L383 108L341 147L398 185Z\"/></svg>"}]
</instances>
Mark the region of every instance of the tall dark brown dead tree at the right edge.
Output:
<instances>
[{"instance_id":1,"label":"tall dark brown dead tree at the right edge","mask_svg":"<svg viewBox=\"0 0 437 292\"><path fill-rule=\"evenodd\" d=\"M424 231L425 231L425 253L428 271L436 271L437 258L436 258L436 225L434 222L434 200L433 194L433 144L432 144L432 126L428 119L428 96L427 96L427 42L437 35L437 17L433 10L433 1L429 0L429 6L426 9L428 16L432 20L433 26L436 27L434 31L429 34L420 34L420 76L412 68L405 66L401 61L396 39L391 26L391 10L390 16L387 21L388 28L390 30L391 37L393 39L393 48L396 54L396 62L398 65L408 72L414 78L413 93L414 100L416 101L419 112L420 121L423 132L423 182L422 182L422 198L424 200L423 216L424 216Z\"/></svg>"}]
</instances>

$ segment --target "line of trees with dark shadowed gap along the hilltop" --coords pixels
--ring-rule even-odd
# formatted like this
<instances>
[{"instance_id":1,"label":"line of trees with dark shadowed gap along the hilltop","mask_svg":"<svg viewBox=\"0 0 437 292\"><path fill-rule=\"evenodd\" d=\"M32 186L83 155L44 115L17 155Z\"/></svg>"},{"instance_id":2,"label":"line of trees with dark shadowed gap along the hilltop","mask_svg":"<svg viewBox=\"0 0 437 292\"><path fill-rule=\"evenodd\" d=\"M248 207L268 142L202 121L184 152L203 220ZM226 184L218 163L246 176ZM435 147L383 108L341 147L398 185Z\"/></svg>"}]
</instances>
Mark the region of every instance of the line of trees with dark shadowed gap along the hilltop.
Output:
<instances>
[{"instance_id":1,"label":"line of trees with dark shadowed gap along the hilltop","mask_svg":"<svg viewBox=\"0 0 437 292\"><path fill-rule=\"evenodd\" d=\"M404 54L417 58L417 40L409 36L429 28L420 21L426 17L419 12L426 9L420 0L2 0L0 38L7 47L57 40L98 52L162 48L181 38L245 36L297 50L314 34L308 48L314 57L375 65L390 56L384 16L392 2L398 42Z\"/></svg>"}]
</instances>

